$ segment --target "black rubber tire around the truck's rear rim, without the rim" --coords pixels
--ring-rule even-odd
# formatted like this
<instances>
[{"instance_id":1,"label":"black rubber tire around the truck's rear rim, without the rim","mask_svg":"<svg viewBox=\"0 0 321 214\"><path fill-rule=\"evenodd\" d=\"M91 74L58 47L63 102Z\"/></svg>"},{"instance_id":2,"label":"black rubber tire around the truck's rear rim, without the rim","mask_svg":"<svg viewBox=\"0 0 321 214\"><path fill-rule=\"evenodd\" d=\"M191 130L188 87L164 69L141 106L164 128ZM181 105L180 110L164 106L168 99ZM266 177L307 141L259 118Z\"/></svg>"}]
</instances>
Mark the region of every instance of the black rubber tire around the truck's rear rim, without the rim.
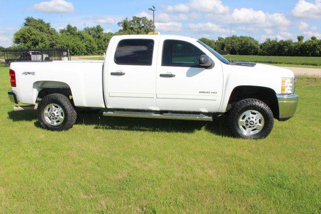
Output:
<instances>
[{"instance_id":1,"label":"black rubber tire around the truck's rear rim, without the rim","mask_svg":"<svg viewBox=\"0 0 321 214\"><path fill-rule=\"evenodd\" d=\"M57 104L63 109L64 120L60 125L52 125L45 118L45 108L49 104ZM63 131L72 128L77 119L77 112L69 99L62 94L50 94L45 96L38 104L38 121L40 125L52 131Z\"/></svg>"}]
</instances>

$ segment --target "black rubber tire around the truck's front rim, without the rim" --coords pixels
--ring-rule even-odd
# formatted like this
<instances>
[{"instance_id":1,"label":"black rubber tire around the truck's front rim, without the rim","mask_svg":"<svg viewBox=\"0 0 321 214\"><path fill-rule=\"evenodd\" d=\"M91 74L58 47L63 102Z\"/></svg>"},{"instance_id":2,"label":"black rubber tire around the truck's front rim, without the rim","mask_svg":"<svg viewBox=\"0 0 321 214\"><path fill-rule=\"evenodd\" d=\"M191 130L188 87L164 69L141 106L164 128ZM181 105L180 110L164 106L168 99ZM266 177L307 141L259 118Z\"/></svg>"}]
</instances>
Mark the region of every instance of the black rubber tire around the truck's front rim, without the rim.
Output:
<instances>
[{"instance_id":1,"label":"black rubber tire around the truck's front rim, without the rim","mask_svg":"<svg viewBox=\"0 0 321 214\"><path fill-rule=\"evenodd\" d=\"M241 115L248 111L254 110L259 112L264 118L263 128L255 134L246 134L239 127ZM236 137L261 139L267 137L272 131L274 117L271 109L262 101L257 99L244 99L237 102L229 112L229 127Z\"/></svg>"}]
</instances>

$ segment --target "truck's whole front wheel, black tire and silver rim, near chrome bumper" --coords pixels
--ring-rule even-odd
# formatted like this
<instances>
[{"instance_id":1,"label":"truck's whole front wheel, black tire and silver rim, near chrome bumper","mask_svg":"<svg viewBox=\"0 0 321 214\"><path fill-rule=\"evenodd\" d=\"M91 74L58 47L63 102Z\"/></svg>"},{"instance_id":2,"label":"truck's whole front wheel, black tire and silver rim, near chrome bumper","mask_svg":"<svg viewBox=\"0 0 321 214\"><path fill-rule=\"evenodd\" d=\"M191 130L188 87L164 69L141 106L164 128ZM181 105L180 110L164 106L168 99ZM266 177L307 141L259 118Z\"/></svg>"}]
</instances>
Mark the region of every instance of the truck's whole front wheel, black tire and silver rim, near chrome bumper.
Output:
<instances>
[{"instance_id":1,"label":"truck's whole front wheel, black tire and silver rim, near chrome bumper","mask_svg":"<svg viewBox=\"0 0 321 214\"><path fill-rule=\"evenodd\" d=\"M229 114L229 125L236 137L260 139L272 131L274 117L271 109L257 99L241 100Z\"/></svg>"}]
</instances>

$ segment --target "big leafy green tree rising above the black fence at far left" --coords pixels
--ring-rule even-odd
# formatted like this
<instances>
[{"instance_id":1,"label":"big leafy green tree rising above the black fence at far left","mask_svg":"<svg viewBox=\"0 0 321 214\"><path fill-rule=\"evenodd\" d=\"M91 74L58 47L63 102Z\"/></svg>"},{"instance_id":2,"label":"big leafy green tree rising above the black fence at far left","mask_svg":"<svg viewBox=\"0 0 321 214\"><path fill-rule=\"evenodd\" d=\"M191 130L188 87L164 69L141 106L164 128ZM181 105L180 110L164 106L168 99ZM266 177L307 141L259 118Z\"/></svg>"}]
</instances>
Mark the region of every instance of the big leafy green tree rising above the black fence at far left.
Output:
<instances>
[{"instance_id":1,"label":"big leafy green tree rising above the black fence at far left","mask_svg":"<svg viewBox=\"0 0 321 214\"><path fill-rule=\"evenodd\" d=\"M32 17L27 17L23 27L14 34L14 44L18 48L56 48L58 39L50 23Z\"/></svg>"}]
</instances>

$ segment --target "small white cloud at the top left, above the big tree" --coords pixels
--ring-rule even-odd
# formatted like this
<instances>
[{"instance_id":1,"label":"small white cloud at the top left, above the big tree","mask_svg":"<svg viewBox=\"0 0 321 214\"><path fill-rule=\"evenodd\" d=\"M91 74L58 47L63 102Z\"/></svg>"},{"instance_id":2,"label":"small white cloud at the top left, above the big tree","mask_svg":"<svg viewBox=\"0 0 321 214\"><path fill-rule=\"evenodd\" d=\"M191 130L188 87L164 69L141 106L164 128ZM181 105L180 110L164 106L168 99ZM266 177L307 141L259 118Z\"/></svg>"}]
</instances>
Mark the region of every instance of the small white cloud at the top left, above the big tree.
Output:
<instances>
[{"instance_id":1,"label":"small white cloud at the top left, above the big tree","mask_svg":"<svg viewBox=\"0 0 321 214\"><path fill-rule=\"evenodd\" d=\"M64 14L75 11L71 2L65 0L52 0L50 2L41 2L33 6L33 10L46 14Z\"/></svg>"}]
</instances>

